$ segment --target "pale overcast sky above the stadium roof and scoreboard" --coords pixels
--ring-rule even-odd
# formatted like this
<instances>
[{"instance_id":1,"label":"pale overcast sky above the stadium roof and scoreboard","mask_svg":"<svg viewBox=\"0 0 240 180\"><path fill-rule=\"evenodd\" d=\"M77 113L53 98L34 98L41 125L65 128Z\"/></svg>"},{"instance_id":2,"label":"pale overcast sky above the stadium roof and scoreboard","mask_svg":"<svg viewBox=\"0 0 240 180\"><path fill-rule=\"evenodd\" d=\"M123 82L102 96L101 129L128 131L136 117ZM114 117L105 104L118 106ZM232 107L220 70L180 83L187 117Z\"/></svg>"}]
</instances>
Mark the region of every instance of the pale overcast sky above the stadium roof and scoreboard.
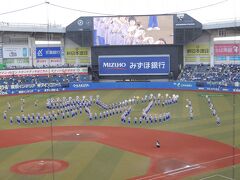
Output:
<instances>
[{"instance_id":1,"label":"pale overcast sky above the stadium roof and scoreboard","mask_svg":"<svg viewBox=\"0 0 240 180\"><path fill-rule=\"evenodd\" d=\"M47 0L50 4L45 2L1 0L0 22L55 23L67 26L80 16L96 16L96 14L59 8L54 5L112 15L166 14L195 9L186 13L201 23L240 19L240 0ZM38 6L3 14L34 5ZM197 9L199 7L202 8Z\"/></svg>"}]
</instances>

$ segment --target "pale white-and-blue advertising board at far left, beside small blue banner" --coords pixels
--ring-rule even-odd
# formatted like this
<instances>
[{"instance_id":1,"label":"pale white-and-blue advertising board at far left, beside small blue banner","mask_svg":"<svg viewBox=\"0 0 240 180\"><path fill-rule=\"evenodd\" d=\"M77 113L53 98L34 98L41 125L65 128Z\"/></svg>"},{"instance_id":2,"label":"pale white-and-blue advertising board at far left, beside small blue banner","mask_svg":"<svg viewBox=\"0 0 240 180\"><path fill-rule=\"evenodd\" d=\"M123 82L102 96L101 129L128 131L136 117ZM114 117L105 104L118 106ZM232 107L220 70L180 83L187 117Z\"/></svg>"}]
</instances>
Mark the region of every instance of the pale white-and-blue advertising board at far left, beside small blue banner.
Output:
<instances>
[{"instance_id":1,"label":"pale white-and-blue advertising board at far left, beside small blue banner","mask_svg":"<svg viewBox=\"0 0 240 180\"><path fill-rule=\"evenodd\" d=\"M3 58L16 59L29 57L28 47L3 47Z\"/></svg>"}]
</instances>

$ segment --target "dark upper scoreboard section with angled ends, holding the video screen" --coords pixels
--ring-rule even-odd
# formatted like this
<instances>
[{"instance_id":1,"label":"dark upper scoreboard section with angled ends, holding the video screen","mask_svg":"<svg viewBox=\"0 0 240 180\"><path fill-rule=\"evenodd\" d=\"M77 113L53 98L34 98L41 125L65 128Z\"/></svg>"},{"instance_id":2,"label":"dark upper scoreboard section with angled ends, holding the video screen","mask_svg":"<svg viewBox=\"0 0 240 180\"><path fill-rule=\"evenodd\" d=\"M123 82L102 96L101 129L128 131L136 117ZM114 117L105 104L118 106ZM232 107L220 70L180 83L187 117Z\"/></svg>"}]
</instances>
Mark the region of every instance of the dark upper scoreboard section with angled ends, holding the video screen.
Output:
<instances>
[{"instance_id":1,"label":"dark upper scoreboard section with angled ends, holding the video screen","mask_svg":"<svg viewBox=\"0 0 240 180\"><path fill-rule=\"evenodd\" d=\"M80 17L66 28L85 47L183 45L201 33L202 24L187 14Z\"/></svg>"}]
</instances>

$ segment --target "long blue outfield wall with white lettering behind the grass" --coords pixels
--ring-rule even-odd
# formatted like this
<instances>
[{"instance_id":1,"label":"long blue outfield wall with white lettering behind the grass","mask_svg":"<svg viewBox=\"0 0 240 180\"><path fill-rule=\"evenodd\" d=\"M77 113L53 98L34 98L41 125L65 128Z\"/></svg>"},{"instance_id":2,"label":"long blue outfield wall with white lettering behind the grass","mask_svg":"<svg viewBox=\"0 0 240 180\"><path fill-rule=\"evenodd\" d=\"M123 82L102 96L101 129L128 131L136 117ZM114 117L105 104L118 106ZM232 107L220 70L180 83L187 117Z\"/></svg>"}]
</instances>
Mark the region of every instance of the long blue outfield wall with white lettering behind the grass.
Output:
<instances>
[{"instance_id":1,"label":"long blue outfield wall with white lettering behind the grass","mask_svg":"<svg viewBox=\"0 0 240 180\"><path fill-rule=\"evenodd\" d=\"M111 90L111 89L173 89L173 90L199 90L215 92L240 93L240 87L211 87L197 86L196 82L76 82L69 84L26 84L21 86L0 86L0 95L17 95L61 91L81 90Z\"/></svg>"}]
</instances>

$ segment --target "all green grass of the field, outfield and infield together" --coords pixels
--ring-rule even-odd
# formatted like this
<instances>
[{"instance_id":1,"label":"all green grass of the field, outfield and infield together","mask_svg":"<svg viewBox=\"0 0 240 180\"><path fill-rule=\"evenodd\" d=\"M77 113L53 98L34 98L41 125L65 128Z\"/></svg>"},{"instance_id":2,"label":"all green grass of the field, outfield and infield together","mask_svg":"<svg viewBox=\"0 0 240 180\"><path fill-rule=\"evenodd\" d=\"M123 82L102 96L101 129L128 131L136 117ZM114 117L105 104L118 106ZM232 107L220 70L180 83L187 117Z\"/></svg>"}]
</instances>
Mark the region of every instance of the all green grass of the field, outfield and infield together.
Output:
<instances>
[{"instance_id":1,"label":"all green grass of the field, outfield and infield together","mask_svg":"<svg viewBox=\"0 0 240 180\"><path fill-rule=\"evenodd\" d=\"M216 140L240 148L240 95L221 94L221 93L206 93L192 91L163 91L163 90L101 90L101 91L78 91L66 93L50 93L50 94L34 94L34 95L19 95L19 96L1 96L0 97L0 112L7 110L7 102L11 104L11 110L7 111L8 117L21 115L20 99L25 99L24 114L28 113L47 113L46 99L53 97L73 97L90 95L99 95L104 103L118 102L123 99L128 99L133 96L142 97L146 94L165 95L166 93L178 94L179 102L167 107L154 107L150 114L159 114L163 112L171 113L171 120L160 124L143 124L143 125L123 125L120 121L120 116L115 115L107 120L89 121L86 114L78 115L75 118L69 118L64 121L57 121L53 126L124 126L124 127L141 127L149 129L166 130L172 132L181 132L208 139ZM221 118L221 125L217 126L215 118L211 115L208 108L206 95L211 97L211 100L216 107L217 113ZM192 101L194 119L190 120L186 99ZM38 107L34 107L34 101L38 100ZM235 103L235 106L234 106ZM131 117L139 117L142 109L147 106L145 104L133 105ZM91 107L91 111L102 111L98 106ZM16 129L22 127L46 127L49 125L10 125L9 121L4 121L1 115L0 130ZM1 137L0 137L1 138ZM133 176L143 175L149 165L149 159L134 153L125 152L113 147L105 146L90 142L50 142L34 143L30 145L21 145L11 148L0 149L0 179L33 179L32 176L22 176L13 174L9 171L10 164L14 164L29 159L47 158L52 156L52 147L54 148L54 158L63 159L71 164L64 172L56 173L56 179L126 179ZM111 157L111 158L109 158ZM128 164L126 166L126 164ZM99 168L104 167L104 169ZM77 167L77 168L76 168ZM122 173L124 172L124 173ZM212 176L211 179L223 178L214 176L220 174L229 178L237 177L240 179L240 166L228 167L219 171L210 172L201 176L193 176L187 179L200 179L207 176ZM4 177L4 178L3 178ZM7 178L5 178L7 177ZM52 175L34 176L34 179L51 179Z\"/></svg>"}]
</instances>

